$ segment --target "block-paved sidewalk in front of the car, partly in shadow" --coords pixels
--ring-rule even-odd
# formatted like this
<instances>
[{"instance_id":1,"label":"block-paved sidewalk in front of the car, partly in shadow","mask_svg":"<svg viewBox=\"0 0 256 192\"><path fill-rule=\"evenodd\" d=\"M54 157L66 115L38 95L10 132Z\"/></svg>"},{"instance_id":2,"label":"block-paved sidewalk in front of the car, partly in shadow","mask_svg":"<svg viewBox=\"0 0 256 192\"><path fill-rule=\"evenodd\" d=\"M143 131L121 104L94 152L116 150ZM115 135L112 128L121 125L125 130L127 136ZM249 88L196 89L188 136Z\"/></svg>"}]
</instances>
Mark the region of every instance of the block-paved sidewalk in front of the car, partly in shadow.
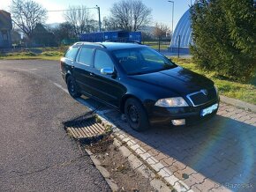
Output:
<instances>
[{"instance_id":1,"label":"block-paved sidewalk in front of the car, partly in shadow","mask_svg":"<svg viewBox=\"0 0 256 192\"><path fill-rule=\"evenodd\" d=\"M137 132L117 111L101 110L116 135L179 191L256 191L255 113L221 103L215 118L197 126Z\"/></svg>"}]
</instances>

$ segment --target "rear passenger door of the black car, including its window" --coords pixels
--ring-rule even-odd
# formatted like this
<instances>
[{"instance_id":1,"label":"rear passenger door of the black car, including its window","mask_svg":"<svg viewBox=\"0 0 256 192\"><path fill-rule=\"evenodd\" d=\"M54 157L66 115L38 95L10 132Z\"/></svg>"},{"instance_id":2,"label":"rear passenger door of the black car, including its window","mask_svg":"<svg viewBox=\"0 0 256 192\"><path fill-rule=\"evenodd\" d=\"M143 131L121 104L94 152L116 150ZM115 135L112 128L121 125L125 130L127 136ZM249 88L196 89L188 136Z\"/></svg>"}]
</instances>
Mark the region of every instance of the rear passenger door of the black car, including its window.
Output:
<instances>
[{"instance_id":1,"label":"rear passenger door of the black car, including its window","mask_svg":"<svg viewBox=\"0 0 256 192\"><path fill-rule=\"evenodd\" d=\"M94 48L81 47L73 70L80 92L86 94L92 94L92 87L89 82L93 68L93 55Z\"/></svg>"}]
</instances>

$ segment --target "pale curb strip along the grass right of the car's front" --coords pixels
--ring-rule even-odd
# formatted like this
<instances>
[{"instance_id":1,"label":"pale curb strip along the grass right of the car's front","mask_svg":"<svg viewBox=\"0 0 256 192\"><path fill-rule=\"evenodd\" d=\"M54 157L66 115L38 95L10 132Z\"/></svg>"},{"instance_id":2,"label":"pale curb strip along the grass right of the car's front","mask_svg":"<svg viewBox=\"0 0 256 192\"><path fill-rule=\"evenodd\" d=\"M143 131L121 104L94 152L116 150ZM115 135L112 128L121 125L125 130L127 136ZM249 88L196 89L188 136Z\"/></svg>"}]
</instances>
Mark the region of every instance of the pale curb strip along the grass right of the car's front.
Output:
<instances>
[{"instance_id":1,"label":"pale curb strip along the grass right of the car's front","mask_svg":"<svg viewBox=\"0 0 256 192\"><path fill-rule=\"evenodd\" d=\"M235 107L243 108L247 111L251 111L253 113L256 113L256 106L251 104L251 103L246 103L245 101L242 100L236 100L233 98L229 98L223 95L220 95L221 101L227 104L230 104Z\"/></svg>"}]
</instances>

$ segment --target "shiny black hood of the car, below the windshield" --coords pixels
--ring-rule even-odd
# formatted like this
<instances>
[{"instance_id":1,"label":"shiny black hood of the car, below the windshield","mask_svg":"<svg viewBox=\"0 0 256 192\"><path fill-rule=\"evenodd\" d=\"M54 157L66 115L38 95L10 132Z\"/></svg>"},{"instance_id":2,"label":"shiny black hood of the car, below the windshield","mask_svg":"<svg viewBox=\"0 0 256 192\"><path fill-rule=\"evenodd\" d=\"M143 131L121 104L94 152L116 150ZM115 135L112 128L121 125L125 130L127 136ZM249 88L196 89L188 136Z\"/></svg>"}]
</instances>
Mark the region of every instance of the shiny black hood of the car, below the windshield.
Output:
<instances>
[{"instance_id":1,"label":"shiny black hood of the car, below the windshield","mask_svg":"<svg viewBox=\"0 0 256 192\"><path fill-rule=\"evenodd\" d=\"M200 91L201 89L207 89L214 85L213 81L210 79L194 73L191 70L185 70L182 67L134 75L130 76L130 78L145 82L149 85L162 87L182 95Z\"/></svg>"}]
</instances>

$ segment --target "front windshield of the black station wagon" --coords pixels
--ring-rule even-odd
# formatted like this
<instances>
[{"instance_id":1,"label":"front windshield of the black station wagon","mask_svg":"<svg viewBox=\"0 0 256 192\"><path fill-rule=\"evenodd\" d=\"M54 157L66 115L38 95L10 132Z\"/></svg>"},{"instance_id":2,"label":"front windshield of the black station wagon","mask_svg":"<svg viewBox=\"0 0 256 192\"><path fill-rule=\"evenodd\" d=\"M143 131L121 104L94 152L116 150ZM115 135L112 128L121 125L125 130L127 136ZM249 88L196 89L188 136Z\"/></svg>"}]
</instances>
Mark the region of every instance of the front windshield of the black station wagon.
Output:
<instances>
[{"instance_id":1,"label":"front windshield of the black station wagon","mask_svg":"<svg viewBox=\"0 0 256 192\"><path fill-rule=\"evenodd\" d=\"M113 51L128 75L169 70L177 65L151 48L131 48Z\"/></svg>"}]
</instances>

